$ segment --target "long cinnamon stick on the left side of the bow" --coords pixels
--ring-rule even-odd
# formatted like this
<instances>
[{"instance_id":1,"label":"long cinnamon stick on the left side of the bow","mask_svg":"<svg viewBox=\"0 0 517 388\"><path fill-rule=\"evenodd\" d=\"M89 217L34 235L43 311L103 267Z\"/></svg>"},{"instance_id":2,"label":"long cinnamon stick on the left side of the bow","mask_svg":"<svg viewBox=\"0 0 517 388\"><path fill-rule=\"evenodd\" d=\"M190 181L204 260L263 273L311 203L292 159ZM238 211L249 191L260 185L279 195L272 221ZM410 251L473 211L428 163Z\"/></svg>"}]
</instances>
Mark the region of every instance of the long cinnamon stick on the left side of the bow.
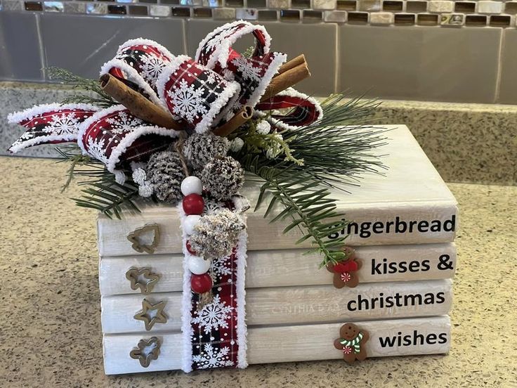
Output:
<instances>
[{"instance_id":1,"label":"long cinnamon stick on the left side of the bow","mask_svg":"<svg viewBox=\"0 0 517 388\"><path fill-rule=\"evenodd\" d=\"M176 129L176 131L183 130L181 124L176 122L169 113L149 101L138 93L138 91L131 89L119 79L110 74L105 74L100 77L99 82L103 91L128 108L136 117L155 124L158 127Z\"/></svg>"}]
</instances>

